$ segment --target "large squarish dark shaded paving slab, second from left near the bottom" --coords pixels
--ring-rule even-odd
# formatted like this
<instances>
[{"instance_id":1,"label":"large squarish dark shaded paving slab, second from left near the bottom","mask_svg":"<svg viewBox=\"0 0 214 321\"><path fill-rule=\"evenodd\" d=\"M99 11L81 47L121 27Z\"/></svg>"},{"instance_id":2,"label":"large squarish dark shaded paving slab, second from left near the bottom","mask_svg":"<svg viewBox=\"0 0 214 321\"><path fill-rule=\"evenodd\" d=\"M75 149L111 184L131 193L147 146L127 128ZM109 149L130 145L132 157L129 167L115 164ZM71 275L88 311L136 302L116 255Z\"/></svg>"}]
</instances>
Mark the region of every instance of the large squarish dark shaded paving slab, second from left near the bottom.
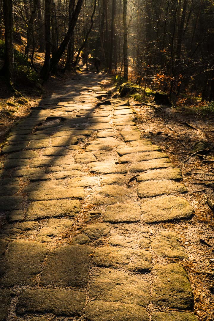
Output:
<instances>
[{"instance_id":1,"label":"large squarish dark shaded paving slab, second from left near the bottom","mask_svg":"<svg viewBox=\"0 0 214 321\"><path fill-rule=\"evenodd\" d=\"M44 285L82 287L87 284L93 248L66 245L51 251L41 276Z\"/></svg>"}]
</instances>

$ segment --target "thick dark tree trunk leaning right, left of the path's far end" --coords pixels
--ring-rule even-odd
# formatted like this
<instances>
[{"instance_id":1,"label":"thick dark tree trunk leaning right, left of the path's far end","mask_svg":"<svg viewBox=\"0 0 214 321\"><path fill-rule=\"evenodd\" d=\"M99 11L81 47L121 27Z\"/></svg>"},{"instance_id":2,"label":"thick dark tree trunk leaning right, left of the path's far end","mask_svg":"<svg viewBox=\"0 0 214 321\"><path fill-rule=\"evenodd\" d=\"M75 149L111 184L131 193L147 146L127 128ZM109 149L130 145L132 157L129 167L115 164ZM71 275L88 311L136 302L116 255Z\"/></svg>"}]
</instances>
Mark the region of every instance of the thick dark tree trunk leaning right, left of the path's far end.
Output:
<instances>
[{"instance_id":1,"label":"thick dark tree trunk leaning right, left of the path's far end","mask_svg":"<svg viewBox=\"0 0 214 321\"><path fill-rule=\"evenodd\" d=\"M50 0L45 0L46 2ZM83 0L78 0L74 14L71 19L71 23L69 25L69 29L65 35L65 38L63 39L60 47L57 49L57 52L54 53L54 55L51 58L50 64L46 64L45 67L43 65L43 73L42 77L43 79L47 79L51 71L53 70L54 66L58 64L60 58L62 57L63 52L65 51L66 47L68 46L68 43L73 35L75 25L77 23L77 19L82 7Z\"/></svg>"}]
</instances>

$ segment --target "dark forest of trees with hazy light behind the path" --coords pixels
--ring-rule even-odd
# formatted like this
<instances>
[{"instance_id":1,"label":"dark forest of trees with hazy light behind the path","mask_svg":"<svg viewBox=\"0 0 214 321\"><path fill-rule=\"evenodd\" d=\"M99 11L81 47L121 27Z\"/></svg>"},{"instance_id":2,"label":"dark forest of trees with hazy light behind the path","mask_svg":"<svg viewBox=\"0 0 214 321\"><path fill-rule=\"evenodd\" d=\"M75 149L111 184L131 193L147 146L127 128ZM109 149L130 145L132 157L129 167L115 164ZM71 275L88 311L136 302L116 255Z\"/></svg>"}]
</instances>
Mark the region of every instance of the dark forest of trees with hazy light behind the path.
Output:
<instances>
[{"instance_id":1,"label":"dark forest of trees with hazy light behind the path","mask_svg":"<svg viewBox=\"0 0 214 321\"><path fill-rule=\"evenodd\" d=\"M0 0L0 39L12 88L20 74L46 80L97 56L121 82L214 99L212 0Z\"/></svg>"}]
</instances>

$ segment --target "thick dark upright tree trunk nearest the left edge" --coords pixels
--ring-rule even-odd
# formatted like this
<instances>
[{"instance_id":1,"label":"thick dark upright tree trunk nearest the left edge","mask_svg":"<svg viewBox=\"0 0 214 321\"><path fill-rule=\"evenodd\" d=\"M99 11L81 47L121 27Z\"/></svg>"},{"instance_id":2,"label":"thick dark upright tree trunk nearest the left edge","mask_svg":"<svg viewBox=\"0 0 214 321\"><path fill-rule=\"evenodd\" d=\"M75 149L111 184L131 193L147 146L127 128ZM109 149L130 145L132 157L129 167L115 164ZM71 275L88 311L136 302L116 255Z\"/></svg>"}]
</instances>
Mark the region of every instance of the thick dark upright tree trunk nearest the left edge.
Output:
<instances>
[{"instance_id":1,"label":"thick dark upright tree trunk nearest the left edge","mask_svg":"<svg viewBox=\"0 0 214 321\"><path fill-rule=\"evenodd\" d=\"M13 5L12 0L3 0L4 11L4 38L5 38L5 60L0 75L5 76L7 83L13 88L12 73L14 67L13 53Z\"/></svg>"}]
</instances>

